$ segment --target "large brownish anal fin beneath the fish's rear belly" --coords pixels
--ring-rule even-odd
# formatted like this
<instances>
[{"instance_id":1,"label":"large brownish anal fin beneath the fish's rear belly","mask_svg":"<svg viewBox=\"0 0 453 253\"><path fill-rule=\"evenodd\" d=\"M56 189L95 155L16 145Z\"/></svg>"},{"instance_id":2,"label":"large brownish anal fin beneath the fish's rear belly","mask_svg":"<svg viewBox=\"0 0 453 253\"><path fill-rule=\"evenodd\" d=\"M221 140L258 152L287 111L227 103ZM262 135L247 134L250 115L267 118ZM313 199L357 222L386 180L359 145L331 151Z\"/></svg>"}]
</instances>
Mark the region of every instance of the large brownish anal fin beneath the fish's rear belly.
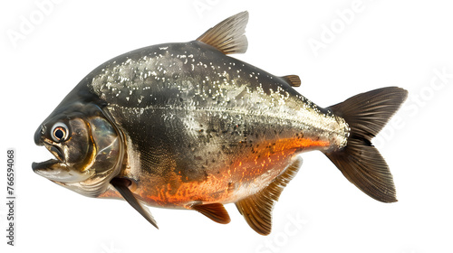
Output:
<instances>
[{"instance_id":1,"label":"large brownish anal fin beneath the fish's rear belly","mask_svg":"<svg viewBox=\"0 0 453 253\"><path fill-rule=\"evenodd\" d=\"M299 171L302 158L296 157L293 164L289 165L284 173L269 183L265 189L236 202L237 210L244 216L248 225L258 234L268 235L272 228L272 209L278 201L284 187L289 183L294 175Z\"/></svg>"}]
</instances>

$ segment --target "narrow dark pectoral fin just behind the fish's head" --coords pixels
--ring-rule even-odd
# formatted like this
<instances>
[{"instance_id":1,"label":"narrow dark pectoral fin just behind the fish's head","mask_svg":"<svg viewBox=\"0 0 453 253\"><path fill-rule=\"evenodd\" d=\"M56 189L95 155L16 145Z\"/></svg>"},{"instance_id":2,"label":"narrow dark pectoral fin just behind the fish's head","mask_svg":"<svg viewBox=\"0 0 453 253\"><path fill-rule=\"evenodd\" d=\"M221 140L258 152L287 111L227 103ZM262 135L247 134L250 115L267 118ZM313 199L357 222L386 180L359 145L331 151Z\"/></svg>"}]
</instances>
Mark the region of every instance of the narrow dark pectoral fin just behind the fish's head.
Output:
<instances>
[{"instance_id":1,"label":"narrow dark pectoral fin just behind the fish's head","mask_svg":"<svg viewBox=\"0 0 453 253\"><path fill-rule=\"evenodd\" d=\"M130 192L129 189L130 180L126 178L115 177L111 180L111 185L113 185L113 187L115 187L115 189L118 192L120 192L124 200L128 201L135 210L140 212L141 216L143 216L146 220L149 221L149 223L151 223L154 227L156 227L159 230L158 224L156 223L156 220L154 220L154 218L152 217L148 208L144 206L142 203L140 203L140 201L135 198L134 194Z\"/></svg>"}]
</instances>

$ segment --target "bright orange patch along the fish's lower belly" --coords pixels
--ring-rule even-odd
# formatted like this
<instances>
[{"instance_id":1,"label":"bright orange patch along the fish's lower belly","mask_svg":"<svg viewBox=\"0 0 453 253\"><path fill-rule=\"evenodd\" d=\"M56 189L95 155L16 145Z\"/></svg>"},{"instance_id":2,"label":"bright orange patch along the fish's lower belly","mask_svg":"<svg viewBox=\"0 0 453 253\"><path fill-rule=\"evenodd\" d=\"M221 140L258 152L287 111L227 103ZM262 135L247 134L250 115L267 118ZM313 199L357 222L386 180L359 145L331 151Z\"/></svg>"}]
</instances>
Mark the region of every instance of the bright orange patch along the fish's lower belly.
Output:
<instances>
[{"instance_id":1,"label":"bright orange patch along the fish's lower belly","mask_svg":"<svg viewBox=\"0 0 453 253\"><path fill-rule=\"evenodd\" d=\"M194 203L229 203L262 190L291 164L294 155L302 151L329 147L327 141L308 138L284 138L265 141L218 170L207 174L206 180L187 182L182 175L170 173L167 178L140 178L130 190L150 206L189 209ZM175 171L175 170L172 170ZM119 197L116 192L104 192L100 197Z\"/></svg>"}]
</instances>

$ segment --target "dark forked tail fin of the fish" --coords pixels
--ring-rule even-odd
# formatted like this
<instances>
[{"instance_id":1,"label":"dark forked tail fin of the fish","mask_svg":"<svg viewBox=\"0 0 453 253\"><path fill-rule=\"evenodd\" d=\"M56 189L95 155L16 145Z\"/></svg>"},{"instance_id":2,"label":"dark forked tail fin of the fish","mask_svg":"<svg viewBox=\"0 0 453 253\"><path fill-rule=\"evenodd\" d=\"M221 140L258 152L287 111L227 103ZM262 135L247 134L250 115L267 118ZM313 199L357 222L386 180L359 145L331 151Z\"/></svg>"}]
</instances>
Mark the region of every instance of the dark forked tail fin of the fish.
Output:
<instances>
[{"instance_id":1,"label":"dark forked tail fin of the fish","mask_svg":"<svg viewBox=\"0 0 453 253\"><path fill-rule=\"evenodd\" d=\"M371 139L407 97L407 90L387 87L361 93L329 108L346 120L351 132L342 150L325 155L351 183L378 201L395 202L397 199L389 166L371 145Z\"/></svg>"}]
</instances>

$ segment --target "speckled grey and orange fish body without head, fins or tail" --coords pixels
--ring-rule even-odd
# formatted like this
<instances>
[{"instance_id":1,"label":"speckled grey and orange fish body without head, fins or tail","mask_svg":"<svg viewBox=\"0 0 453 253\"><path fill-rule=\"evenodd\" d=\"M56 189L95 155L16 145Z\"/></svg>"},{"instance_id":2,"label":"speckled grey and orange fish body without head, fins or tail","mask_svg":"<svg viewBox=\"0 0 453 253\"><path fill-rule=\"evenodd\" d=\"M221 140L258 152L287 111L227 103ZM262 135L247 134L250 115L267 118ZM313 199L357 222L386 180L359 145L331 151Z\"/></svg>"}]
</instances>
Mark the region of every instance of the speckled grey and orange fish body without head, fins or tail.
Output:
<instances>
[{"instance_id":1,"label":"speckled grey and orange fish body without head, fins or tail","mask_svg":"<svg viewBox=\"0 0 453 253\"><path fill-rule=\"evenodd\" d=\"M150 205L235 202L262 190L294 155L346 143L341 117L203 42L151 46L92 74L82 87L109 101L127 136L121 175Z\"/></svg>"}]
</instances>

